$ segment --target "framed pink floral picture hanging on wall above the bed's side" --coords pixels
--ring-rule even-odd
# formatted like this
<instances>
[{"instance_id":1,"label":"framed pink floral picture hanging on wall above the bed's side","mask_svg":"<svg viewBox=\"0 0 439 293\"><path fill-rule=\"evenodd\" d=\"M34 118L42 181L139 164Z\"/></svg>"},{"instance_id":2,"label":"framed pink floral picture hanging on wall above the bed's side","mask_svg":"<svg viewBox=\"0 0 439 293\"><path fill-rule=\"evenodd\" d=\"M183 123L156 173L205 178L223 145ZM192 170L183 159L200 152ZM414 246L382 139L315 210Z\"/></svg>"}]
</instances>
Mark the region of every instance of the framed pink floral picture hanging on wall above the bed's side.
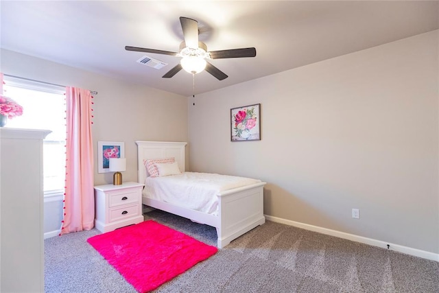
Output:
<instances>
[{"instance_id":1,"label":"framed pink floral picture hanging on wall above the bed's side","mask_svg":"<svg viewBox=\"0 0 439 293\"><path fill-rule=\"evenodd\" d=\"M230 109L231 141L261 140L261 104Z\"/></svg>"}]
</instances>

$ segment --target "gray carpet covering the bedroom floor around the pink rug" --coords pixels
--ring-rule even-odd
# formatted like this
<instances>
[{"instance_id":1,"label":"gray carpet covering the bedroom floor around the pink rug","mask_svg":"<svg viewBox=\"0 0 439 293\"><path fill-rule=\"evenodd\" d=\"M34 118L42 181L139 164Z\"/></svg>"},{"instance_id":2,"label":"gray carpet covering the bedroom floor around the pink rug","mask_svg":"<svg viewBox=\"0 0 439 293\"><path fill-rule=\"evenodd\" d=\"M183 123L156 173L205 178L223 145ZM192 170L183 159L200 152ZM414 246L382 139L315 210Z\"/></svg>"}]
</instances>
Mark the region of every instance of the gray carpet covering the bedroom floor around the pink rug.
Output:
<instances>
[{"instance_id":1,"label":"gray carpet covering the bedroom floor around the pink rug","mask_svg":"<svg viewBox=\"0 0 439 293\"><path fill-rule=\"evenodd\" d=\"M207 244L215 228L162 211L145 214ZM136 292L86 239L45 240L45 292ZM266 222L155 292L439 292L439 263Z\"/></svg>"}]
</instances>

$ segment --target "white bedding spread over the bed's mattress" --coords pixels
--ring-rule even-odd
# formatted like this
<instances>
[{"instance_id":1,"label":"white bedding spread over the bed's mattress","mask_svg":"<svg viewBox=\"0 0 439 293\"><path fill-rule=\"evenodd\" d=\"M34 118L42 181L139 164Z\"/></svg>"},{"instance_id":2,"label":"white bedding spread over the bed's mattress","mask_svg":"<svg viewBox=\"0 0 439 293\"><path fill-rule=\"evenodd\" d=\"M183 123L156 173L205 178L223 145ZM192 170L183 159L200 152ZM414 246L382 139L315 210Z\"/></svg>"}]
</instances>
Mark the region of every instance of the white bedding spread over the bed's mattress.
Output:
<instances>
[{"instance_id":1,"label":"white bedding spread over the bed's mattress","mask_svg":"<svg viewBox=\"0 0 439 293\"><path fill-rule=\"evenodd\" d=\"M143 196L218 215L216 194L260 182L239 176L184 172L172 176L147 177Z\"/></svg>"}]
</instances>

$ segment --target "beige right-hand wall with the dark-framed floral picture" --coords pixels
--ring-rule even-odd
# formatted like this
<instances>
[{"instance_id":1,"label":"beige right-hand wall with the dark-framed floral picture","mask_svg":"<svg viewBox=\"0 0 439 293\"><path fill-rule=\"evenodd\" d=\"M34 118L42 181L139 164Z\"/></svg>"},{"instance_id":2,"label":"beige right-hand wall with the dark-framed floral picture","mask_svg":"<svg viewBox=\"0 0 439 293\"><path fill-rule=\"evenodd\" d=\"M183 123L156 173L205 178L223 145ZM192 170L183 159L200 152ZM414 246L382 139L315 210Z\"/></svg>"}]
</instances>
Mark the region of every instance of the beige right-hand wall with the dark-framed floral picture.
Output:
<instances>
[{"instance_id":1,"label":"beige right-hand wall with the dark-framed floral picture","mask_svg":"<svg viewBox=\"0 0 439 293\"><path fill-rule=\"evenodd\" d=\"M439 253L438 31L195 99L192 171L265 180L268 215ZM230 142L230 108L257 103L262 140Z\"/></svg>"}]
</instances>

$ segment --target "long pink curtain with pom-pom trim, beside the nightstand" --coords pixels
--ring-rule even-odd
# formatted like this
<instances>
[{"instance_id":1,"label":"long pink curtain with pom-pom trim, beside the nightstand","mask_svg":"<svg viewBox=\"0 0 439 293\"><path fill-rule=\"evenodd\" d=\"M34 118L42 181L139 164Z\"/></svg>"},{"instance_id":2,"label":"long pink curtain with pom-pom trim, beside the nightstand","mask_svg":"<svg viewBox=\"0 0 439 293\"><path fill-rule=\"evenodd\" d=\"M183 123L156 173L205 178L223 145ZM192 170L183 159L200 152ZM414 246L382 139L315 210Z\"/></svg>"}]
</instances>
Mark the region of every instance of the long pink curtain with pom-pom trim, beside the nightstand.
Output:
<instances>
[{"instance_id":1,"label":"long pink curtain with pom-pom trim, beside the nightstand","mask_svg":"<svg viewBox=\"0 0 439 293\"><path fill-rule=\"evenodd\" d=\"M88 90L66 87L66 185L60 235L94 226L92 98Z\"/></svg>"}]
</instances>

